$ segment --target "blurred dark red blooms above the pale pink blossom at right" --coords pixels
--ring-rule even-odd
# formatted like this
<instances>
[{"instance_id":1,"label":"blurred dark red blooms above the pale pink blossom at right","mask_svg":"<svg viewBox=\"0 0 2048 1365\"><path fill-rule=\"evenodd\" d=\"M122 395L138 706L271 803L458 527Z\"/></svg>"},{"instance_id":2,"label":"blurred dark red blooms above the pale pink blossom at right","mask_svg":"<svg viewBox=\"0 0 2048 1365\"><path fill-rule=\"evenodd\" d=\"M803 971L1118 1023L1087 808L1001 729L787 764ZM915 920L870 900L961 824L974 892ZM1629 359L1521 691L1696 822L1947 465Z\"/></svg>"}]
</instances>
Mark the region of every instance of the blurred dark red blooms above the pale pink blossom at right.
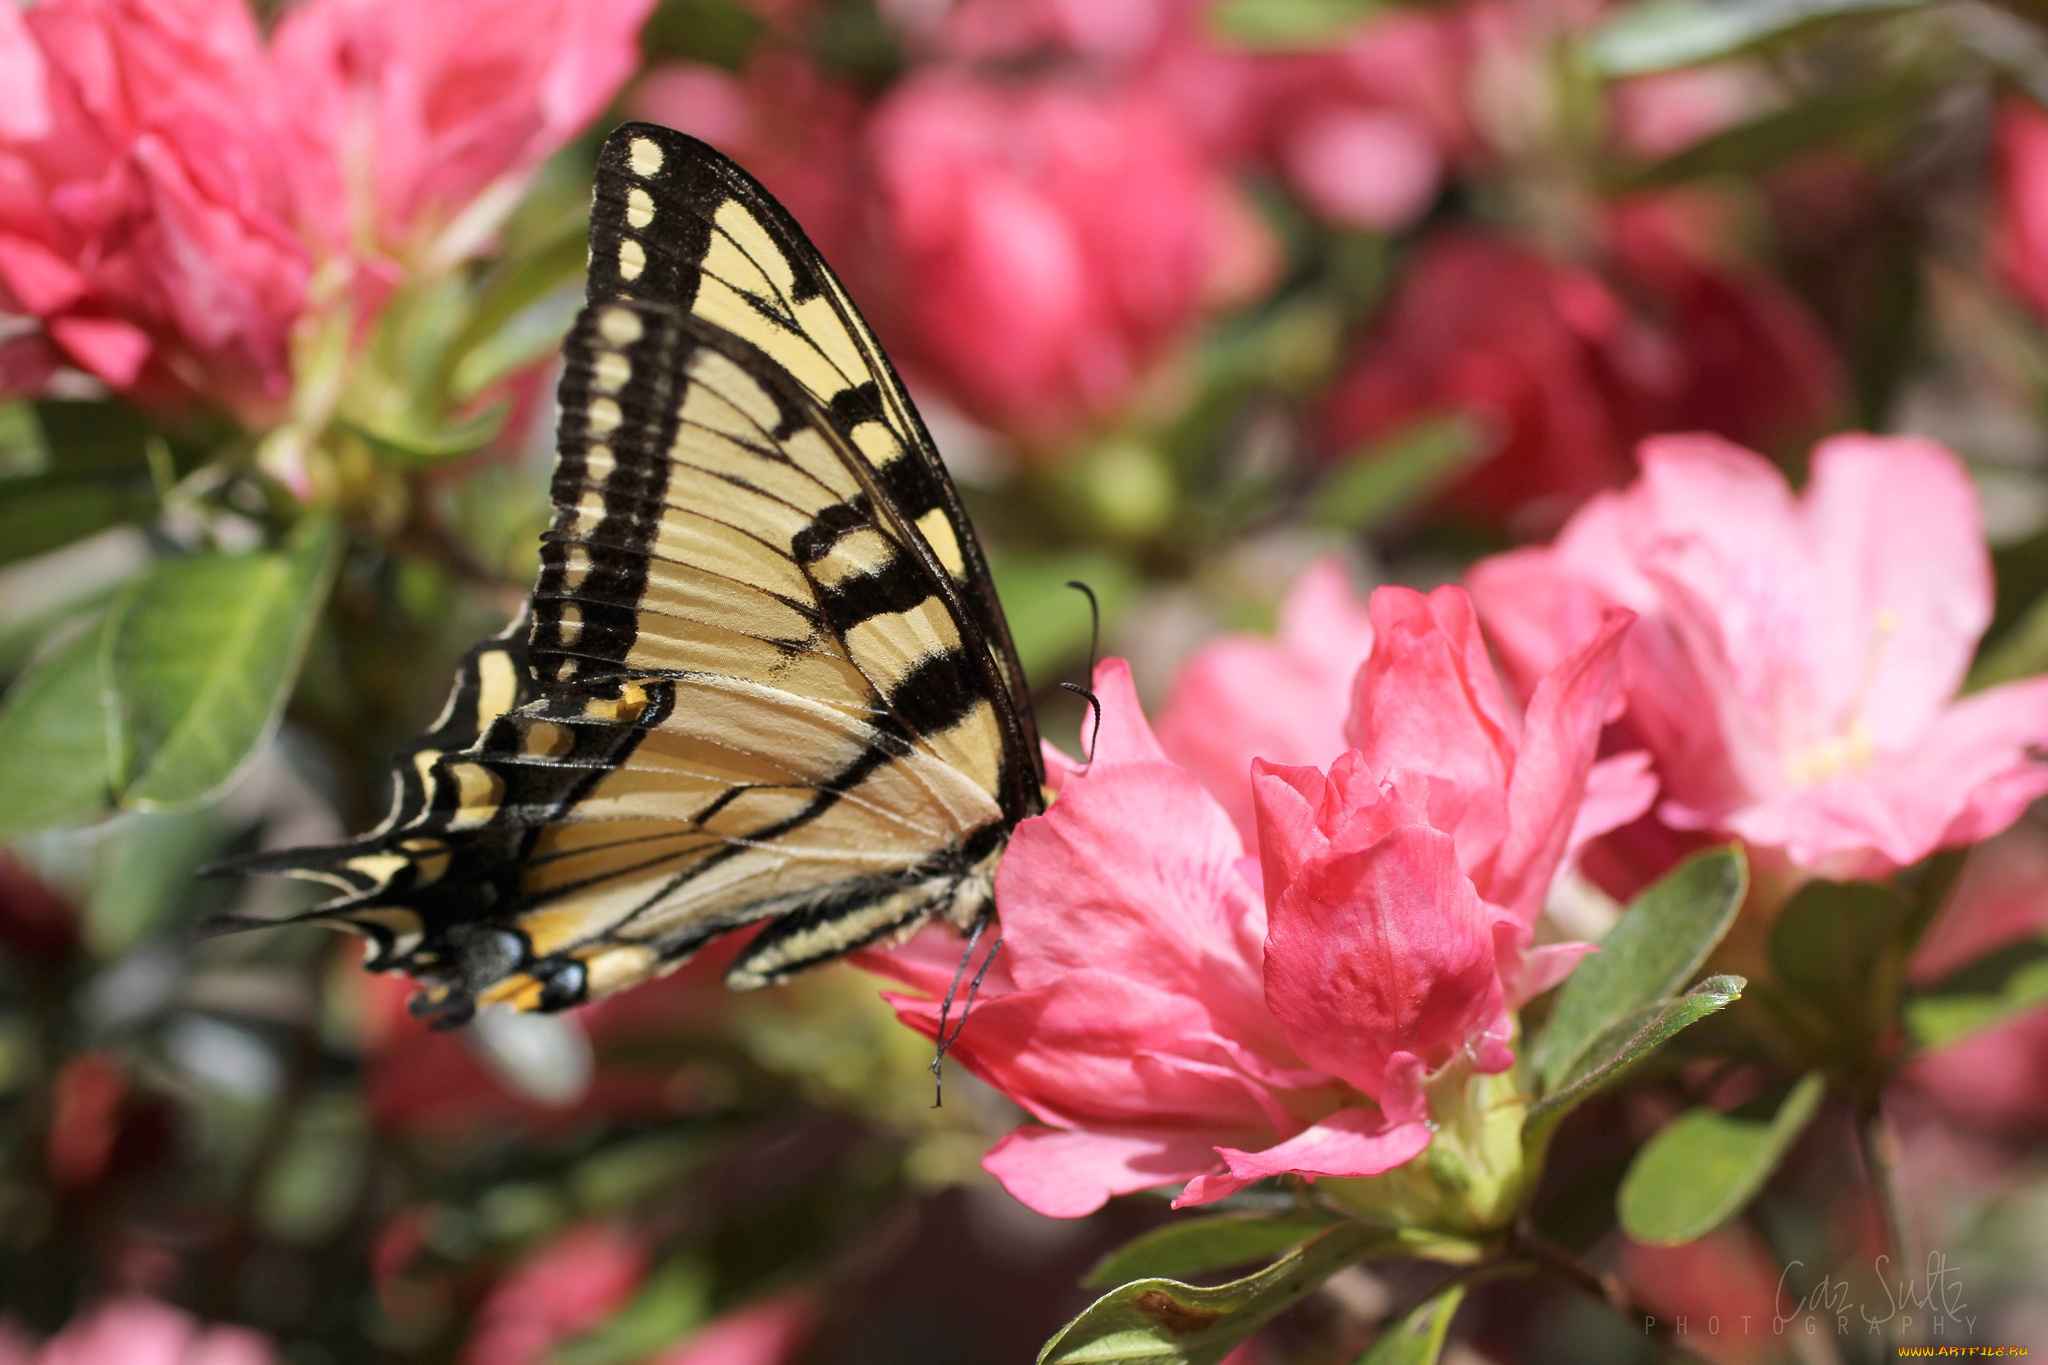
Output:
<instances>
[{"instance_id":1,"label":"blurred dark red blooms above the pale pink blossom at right","mask_svg":"<svg viewBox=\"0 0 2048 1365\"><path fill-rule=\"evenodd\" d=\"M1620 205L1606 274L1475 231L1427 241L1337 381L1327 442L1468 411L1489 450L1446 503L1530 530L1622 485L1655 430L1808 434L1841 391L1833 354L1784 289L1712 256L1712 221L1698 199Z\"/></svg>"}]
</instances>

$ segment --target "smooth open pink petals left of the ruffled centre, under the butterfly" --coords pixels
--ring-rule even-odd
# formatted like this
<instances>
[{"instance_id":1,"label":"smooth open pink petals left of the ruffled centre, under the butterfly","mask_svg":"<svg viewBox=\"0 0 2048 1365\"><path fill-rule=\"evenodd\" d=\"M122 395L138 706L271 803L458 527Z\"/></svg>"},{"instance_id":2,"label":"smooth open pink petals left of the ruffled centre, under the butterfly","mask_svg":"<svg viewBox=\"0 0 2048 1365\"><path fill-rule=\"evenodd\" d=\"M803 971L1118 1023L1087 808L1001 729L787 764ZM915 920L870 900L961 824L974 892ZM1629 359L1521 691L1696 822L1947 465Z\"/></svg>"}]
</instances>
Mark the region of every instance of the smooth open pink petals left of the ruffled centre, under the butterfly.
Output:
<instances>
[{"instance_id":1,"label":"smooth open pink petals left of the ruffled centre, under the butterfly","mask_svg":"<svg viewBox=\"0 0 2048 1365\"><path fill-rule=\"evenodd\" d=\"M1102 731L997 870L1004 952L952 1056L1032 1113L983 1160L1040 1214L1188 1183L1208 1203L1266 1175L1374 1175L1430 1130L1315 1070L1268 1011L1266 909L1217 800L1159 751L1120 659L1096 669ZM932 1036L958 939L864 964Z\"/></svg>"}]
</instances>

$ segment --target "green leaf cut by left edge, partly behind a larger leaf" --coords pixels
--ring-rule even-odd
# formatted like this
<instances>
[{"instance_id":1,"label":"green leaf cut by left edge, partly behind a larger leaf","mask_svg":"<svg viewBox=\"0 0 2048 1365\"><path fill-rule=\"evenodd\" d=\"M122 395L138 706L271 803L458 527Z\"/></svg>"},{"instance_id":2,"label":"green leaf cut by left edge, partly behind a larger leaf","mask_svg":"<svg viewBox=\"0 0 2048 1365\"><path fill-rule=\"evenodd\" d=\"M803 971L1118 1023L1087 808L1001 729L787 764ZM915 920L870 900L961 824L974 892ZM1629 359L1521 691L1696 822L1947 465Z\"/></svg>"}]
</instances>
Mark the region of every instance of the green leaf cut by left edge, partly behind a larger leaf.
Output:
<instances>
[{"instance_id":1,"label":"green leaf cut by left edge, partly behind a larger leaf","mask_svg":"<svg viewBox=\"0 0 2048 1365\"><path fill-rule=\"evenodd\" d=\"M43 655L0 702L0 839L106 814L102 626Z\"/></svg>"}]
</instances>

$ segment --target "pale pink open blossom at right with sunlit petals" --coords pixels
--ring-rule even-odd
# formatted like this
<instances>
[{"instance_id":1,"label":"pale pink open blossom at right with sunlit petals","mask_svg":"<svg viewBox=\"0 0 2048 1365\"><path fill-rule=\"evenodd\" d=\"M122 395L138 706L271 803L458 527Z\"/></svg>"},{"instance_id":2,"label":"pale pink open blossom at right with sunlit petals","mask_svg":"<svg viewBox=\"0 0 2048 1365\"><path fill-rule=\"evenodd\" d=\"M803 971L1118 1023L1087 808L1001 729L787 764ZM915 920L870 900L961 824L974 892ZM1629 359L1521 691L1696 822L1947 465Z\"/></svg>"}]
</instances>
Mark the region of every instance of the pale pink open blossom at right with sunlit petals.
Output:
<instances>
[{"instance_id":1,"label":"pale pink open blossom at right with sunlit petals","mask_svg":"<svg viewBox=\"0 0 2048 1365\"><path fill-rule=\"evenodd\" d=\"M1483 561L1470 583L1524 681L1610 606L1640 614L1620 735L1655 755L1667 827L1876 876L2048 792L2048 679L1956 700L1991 563L1976 493L1931 442L1825 440L1798 497L1739 446L1663 436L1554 546Z\"/></svg>"}]
</instances>

